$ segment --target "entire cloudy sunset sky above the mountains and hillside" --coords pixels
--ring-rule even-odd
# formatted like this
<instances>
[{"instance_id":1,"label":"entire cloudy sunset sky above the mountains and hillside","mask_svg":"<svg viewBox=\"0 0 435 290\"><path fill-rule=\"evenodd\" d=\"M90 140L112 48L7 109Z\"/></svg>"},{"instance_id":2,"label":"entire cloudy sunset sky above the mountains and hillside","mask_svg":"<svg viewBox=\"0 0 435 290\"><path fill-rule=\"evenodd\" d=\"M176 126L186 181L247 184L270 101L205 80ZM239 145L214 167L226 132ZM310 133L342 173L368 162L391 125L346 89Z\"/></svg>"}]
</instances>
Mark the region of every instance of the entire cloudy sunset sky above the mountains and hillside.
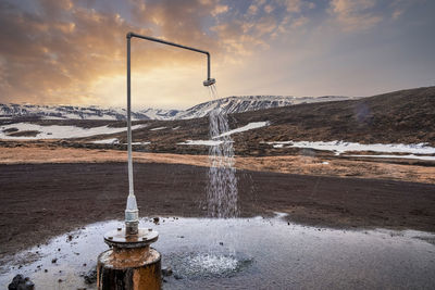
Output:
<instances>
[{"instance_id":1,"label":"entire cloudy sunset sky above the mountains and hillside","mask_svg":"<svg viewBox=\"0 0 435 290\"><path fill-rule=\"evenodd\" d=\"M433 0L0 0L0 103L124 106L126 34L211 53L219 97L435 86ZM206 55L132 40L134 108L210 100Z\"/></svg>"}]
</instances>

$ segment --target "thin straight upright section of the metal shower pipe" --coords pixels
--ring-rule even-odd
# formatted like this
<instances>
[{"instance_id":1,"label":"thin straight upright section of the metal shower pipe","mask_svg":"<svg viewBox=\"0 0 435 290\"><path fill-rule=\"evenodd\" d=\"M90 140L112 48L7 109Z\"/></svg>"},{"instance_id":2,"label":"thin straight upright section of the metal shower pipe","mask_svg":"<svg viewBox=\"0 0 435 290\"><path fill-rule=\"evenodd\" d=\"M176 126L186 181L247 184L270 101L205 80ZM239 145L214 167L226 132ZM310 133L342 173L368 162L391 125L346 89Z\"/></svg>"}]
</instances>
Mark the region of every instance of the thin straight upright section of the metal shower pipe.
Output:
<instances>
[{"instance_id":1,"label":"thin straight upright section of the metal shower pipe","mask_svg":"<svg viewBox=\"0 0 435 290\"><path fill-rule=\"evenodd\" d=\"M132 80L130 80L130 39L127 35L127 148L128 148L128 196L134 196L132 160Z\"/></svg>"}]
</instances>

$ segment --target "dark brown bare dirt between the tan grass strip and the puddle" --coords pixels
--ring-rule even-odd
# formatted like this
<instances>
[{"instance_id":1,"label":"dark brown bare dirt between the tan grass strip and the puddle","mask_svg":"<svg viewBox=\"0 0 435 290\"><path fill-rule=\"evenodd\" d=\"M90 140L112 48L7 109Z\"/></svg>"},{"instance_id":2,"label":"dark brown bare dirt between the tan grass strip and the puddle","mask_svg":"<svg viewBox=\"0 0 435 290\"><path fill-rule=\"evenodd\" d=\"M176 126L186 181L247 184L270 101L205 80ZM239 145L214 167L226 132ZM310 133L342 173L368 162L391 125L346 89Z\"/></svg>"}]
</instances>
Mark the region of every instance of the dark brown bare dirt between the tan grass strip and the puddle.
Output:
<instances>
[{"instance_id":1,"label":"dark brown bare dirt between the tan grass strip and the puddle","mask_svg":"<svg viewBox=\"0 0 435 290\"><path fill-rule=\"evenodd\" d=\"M0 261L88 223L122 219L126 167L125 162L0 164ZM136 163L140 215L207 216L207 172ZM241 216L277 211L315 226L435 231L434 184L252 171L238 171L238 180Z\"/></svg>"}]
</instances>

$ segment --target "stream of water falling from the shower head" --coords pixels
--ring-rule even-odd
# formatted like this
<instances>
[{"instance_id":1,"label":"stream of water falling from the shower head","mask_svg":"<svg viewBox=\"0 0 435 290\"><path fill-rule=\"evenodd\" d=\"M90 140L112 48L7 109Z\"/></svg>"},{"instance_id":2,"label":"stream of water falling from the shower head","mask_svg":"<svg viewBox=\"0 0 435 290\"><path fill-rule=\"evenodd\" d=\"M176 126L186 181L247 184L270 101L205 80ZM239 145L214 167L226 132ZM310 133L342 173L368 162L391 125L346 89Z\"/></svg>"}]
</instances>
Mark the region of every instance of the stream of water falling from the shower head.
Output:
<instances>
[{"instance_id":1,"label":"stream of water falling from the shower head","mask_svg":"<svg viewBox=\"0 0 435 290\"><path fill-rule=\"evenodd\" d=\"M215 86L210 86L209 90L211 98L217 99ZM233 140L229 135L224 135L229 130L228 118L220 106L210 112L209 118L210 138L215 142L209 150L208 214L211 217L235 217L238 215L238 191Z\"/></svg>"}]
</instances>

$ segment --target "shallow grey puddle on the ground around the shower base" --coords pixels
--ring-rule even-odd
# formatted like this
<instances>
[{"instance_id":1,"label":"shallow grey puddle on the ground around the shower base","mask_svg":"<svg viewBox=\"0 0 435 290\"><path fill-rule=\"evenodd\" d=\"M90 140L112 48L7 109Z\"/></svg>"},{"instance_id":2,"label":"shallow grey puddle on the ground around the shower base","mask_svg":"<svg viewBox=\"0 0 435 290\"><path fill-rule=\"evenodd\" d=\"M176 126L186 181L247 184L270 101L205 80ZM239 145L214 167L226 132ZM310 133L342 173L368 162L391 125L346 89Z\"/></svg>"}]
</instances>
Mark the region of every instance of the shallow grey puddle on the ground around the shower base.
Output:
<instances>
[{"instance_id":1,"label":"shallow grey puddle on the ground around the shower base","mask_svg":"<svg viewBox=\"0 0 435 290\"><path fill-rule=\"evenodd\" d=\"M103 232L120 225L117 220L91 224L17 254L13 264L0 266L0 288L22 273L37 289L95 289L80 273L91 269L97 255L108 249ZM144 219L141 226L160 232L153 247L162 253L163 265L174 270L164 289L435 287L433 234L304 227L288 225L279 215L164 218L160 225Z\"/></svg>"}]
</instances>

